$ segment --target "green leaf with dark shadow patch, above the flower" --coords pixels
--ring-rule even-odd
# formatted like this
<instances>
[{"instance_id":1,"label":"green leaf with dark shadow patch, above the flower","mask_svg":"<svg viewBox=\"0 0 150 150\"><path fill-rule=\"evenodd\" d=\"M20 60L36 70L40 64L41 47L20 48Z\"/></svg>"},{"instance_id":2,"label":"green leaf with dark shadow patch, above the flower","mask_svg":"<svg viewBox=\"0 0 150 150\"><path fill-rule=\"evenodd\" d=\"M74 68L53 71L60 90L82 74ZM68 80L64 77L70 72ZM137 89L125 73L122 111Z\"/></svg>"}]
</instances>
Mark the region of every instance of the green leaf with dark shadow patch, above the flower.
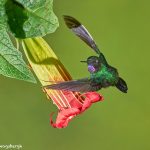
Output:
<instances>
[{"instance_id":1,"label":"green leaf with dark shadow patch, above the flower","mask_svg":"<svg viewBox=\"0 0 150 150\"><path fill-rule=\"evenodd\" d=\"M59 26L53 0L0 0L0 24L18 38L44 36Z\"/></svg>"}]
</instances>

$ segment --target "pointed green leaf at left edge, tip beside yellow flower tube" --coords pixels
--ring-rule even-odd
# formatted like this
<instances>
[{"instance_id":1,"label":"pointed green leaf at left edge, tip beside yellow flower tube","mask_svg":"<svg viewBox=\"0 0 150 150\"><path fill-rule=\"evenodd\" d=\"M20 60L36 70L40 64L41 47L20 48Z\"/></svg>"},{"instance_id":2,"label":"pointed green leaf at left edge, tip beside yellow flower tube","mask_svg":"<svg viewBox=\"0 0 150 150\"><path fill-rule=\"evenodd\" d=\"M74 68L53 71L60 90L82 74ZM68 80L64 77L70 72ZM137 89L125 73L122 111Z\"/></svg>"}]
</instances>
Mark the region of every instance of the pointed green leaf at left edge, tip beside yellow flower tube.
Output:
<instances>
[{"instance_id":1,"label":"pointed green leaf at left edge, tip beside yellow flower tube","mask_svg":"<svg viewBox=\"0 0 150 150\"><path fill-rule=\"evenodd\" d=\"M34 76L13 46L6 30L0 26L0 74L36 83Z\"/></svg>"}]
</instances>

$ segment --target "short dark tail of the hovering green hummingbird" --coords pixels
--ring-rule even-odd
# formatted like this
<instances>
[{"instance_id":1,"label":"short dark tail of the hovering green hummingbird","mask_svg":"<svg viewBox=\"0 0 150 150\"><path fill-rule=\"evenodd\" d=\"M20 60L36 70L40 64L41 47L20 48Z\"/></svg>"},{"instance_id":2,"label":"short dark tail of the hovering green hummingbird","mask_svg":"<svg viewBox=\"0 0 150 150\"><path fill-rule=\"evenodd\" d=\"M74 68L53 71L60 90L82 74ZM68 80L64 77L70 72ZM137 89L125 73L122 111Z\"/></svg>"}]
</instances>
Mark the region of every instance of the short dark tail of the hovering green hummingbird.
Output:
<instances>
[{"instance_id":1,"label":"short dark tail of the hovering green hummingbird","mask_svg":"<svg viewBox=\"0 0 150 150\"><path fill-rule=\"evenodd\" d=\"M119 77L119 80L116 84L116 87L123 93L127 93L127 90L128 90L128 86L126 84L126 82Z\"/></svg>"}]
</instances>

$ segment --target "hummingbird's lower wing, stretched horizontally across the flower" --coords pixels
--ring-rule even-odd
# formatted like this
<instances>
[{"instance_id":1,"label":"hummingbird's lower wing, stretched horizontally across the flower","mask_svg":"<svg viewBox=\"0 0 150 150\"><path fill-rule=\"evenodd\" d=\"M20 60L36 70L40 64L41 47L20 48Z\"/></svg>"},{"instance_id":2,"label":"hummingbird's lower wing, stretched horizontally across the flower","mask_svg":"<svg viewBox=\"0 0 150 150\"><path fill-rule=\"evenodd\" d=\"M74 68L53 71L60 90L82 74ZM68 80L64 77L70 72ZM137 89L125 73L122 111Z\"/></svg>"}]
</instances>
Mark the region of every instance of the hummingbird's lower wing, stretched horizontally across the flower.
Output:
<instances>
[{"instance_id":1,"label":"hummingbird's lower wing, stretched horizontally across the flower","mask_svg":"<svg viewBox=\"0 0 150 150\"><path fill-rule=\"evenodd\" d=\"M93 83L88 78L84 78L79 80L58 82L56 84L46 85L44 86L44 88L73 91L73 92L89 92L89 91L97 91L101 88L101 86L99 84Z\"/></svg>"}]
</instances>

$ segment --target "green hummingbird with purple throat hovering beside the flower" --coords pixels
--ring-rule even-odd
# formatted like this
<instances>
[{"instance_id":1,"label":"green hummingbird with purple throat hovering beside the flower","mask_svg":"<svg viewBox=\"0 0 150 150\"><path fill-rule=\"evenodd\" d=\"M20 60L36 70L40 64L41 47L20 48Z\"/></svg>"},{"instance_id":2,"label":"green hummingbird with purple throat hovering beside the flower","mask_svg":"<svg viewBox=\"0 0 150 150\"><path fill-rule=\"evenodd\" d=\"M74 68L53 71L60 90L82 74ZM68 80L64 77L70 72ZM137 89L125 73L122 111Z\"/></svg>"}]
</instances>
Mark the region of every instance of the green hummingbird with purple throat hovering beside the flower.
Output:
<instances>
[{"instance_id":1,"label":"green hummingbird with purple throat hovering beside the flower","mask_svg":"<svg viewBox=\"0 0 150 150\"><path fill-rule=\"evenodd\" d=\"M98 56L90 56L87 60L81 61L82 63L87 63L90 77L56 82L44 87L73 92L92 92L98 91L101 88L114 86L121 92L127 93L128 87L126 82L119 76L117 69L108 64L88 30L77 19L71 16L64 16L64 21L67 27L91 47Z\"/></svg>"}]
</instances>

